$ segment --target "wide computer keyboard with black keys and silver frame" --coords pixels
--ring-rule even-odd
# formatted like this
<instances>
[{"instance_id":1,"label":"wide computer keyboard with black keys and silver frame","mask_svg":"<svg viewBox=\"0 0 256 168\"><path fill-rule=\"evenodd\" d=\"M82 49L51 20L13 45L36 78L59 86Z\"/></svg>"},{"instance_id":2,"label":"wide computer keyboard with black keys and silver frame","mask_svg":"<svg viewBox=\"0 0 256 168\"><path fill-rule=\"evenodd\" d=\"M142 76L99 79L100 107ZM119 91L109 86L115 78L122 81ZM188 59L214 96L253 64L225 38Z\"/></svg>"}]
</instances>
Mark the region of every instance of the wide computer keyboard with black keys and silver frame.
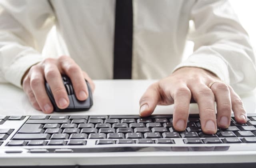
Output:
<instances>
[{"instance_id":1,"label":"wide computer keyboard with black keys and silver frame","mask_svg":"<svg viewBox=\"0 0 256 168\"><path fill-rule=\"evenodd\" d=\"M174 129L172 115L0 116L0 152L234 150L238 144L256 143L256 114L247 120L239 124L232 116L230 127L209 135L202 132L197 114L189 116L184 132Z\"/></svg>"}]
</instances>

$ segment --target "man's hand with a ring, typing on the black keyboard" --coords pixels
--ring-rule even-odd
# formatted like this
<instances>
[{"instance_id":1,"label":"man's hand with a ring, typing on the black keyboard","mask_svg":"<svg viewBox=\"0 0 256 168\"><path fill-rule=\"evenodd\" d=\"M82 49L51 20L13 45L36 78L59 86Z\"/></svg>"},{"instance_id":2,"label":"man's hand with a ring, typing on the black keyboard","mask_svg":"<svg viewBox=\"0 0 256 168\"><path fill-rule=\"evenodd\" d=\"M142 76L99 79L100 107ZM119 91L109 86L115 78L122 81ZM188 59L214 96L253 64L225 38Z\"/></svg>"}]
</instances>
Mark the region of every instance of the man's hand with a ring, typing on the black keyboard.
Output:
<instances>
[{"instance_id":1,"label":"man's hand with a ring, typing on the black keyboard","mask_svg":"<svg viewBox=\"0 0 256 168\"><path fill-rule=\"evenodd\" d=\"M211 72L195 67L180 68L152 84L140 99L140 116L149 116L158 104L174 104L174 129L184 131L192 101L198 104L202 130L206 134L215 134L217 126L228 128L232 110L237 122L246 122L244 106L234 90Z\"/></svg>"}]
</instances>

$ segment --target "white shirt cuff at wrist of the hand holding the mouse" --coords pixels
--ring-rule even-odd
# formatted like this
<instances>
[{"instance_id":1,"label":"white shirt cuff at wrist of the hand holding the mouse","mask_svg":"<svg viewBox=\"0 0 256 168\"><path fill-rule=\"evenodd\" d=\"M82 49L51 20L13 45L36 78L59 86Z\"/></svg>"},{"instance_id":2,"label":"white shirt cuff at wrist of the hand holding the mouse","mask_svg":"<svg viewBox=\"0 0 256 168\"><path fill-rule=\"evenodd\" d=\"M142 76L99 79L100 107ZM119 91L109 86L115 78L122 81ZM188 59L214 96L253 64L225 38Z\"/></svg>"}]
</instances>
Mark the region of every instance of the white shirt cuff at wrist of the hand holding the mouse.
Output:
<instances>
[{"instance_id":1,"label":"white shirt cuff at wrist of the hand holding the mouse","mask_svg":"<svg viewBox=\"0 0 256 168\"><path fill-rule=\"evenodd\" d=\"M5 73L5 79L15 86L22 88L21 80L23 75L31 66L41 62L42 60L43 58L40 54L29 54L20 57L8 68Z\"/></svg>"}]
</instances>

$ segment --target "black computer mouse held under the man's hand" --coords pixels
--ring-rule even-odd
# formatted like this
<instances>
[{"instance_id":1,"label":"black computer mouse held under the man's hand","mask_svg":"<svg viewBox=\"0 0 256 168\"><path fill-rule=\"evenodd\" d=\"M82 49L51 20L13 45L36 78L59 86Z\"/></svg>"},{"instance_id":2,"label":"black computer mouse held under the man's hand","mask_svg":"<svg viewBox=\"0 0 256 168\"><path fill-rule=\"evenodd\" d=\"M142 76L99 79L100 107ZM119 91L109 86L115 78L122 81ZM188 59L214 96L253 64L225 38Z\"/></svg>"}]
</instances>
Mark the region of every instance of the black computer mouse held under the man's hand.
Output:
<instances>
[{"instance_id":1,"label":"black computer mouse held under the man's hand","mask_svg":"<svg viewBox=\"0 0 256 168\"><path fill-rule=\"evenodd\" d=\"M46 93L48 94L48 96L49 96L49 98L52 102L52 105L54 107L55 112L86 111L86 110L89 110L92 107L92 104L93 104L92 103L92 90L91 90L89 82L87 82L85 80L85 82L87 84L89 96L86 100L80 101L76 98L76 95L75 95L75 92L74 92L74 89L73 89L70 78L66 75L62 75L62 81L63 81L63 84L66 88L67 93L68 93L68 98L69 98L69 102L70 102L69 106L65 109L58 108L58 106L57 106L57 104L54 100L52 91L50 89L50 85L47 82L45 82Z\"/></svg>"}]
</instances>

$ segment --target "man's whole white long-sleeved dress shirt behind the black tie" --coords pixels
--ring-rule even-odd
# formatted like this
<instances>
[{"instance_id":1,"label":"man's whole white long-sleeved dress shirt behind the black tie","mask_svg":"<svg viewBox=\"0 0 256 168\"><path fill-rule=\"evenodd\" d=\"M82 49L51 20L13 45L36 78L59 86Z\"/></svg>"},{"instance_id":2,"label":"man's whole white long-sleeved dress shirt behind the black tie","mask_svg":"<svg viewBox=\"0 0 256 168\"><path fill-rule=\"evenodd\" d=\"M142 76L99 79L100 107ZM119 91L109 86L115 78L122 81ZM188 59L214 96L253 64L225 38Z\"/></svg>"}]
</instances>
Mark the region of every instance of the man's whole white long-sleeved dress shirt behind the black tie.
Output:
<instances>
[{"instance_id":1,"label":"man's whole white long-sleeved dress shirt behind the black tie","mask_svg":"<svg viewBox=\"0 0 256 168\"><path fill-rule=\"evenodd\" d=\"M112 79L114 16L115 0L1 0L1 82L21 87L26 70L49 56L42 50L54 25L82 70L92 79ZM160 79L195 66L238 93L255 88L253 50L228 1L133 0L133 22L132 79ZM182 62L187 39L194 53Z\"/></svg>"}]
</instances>

